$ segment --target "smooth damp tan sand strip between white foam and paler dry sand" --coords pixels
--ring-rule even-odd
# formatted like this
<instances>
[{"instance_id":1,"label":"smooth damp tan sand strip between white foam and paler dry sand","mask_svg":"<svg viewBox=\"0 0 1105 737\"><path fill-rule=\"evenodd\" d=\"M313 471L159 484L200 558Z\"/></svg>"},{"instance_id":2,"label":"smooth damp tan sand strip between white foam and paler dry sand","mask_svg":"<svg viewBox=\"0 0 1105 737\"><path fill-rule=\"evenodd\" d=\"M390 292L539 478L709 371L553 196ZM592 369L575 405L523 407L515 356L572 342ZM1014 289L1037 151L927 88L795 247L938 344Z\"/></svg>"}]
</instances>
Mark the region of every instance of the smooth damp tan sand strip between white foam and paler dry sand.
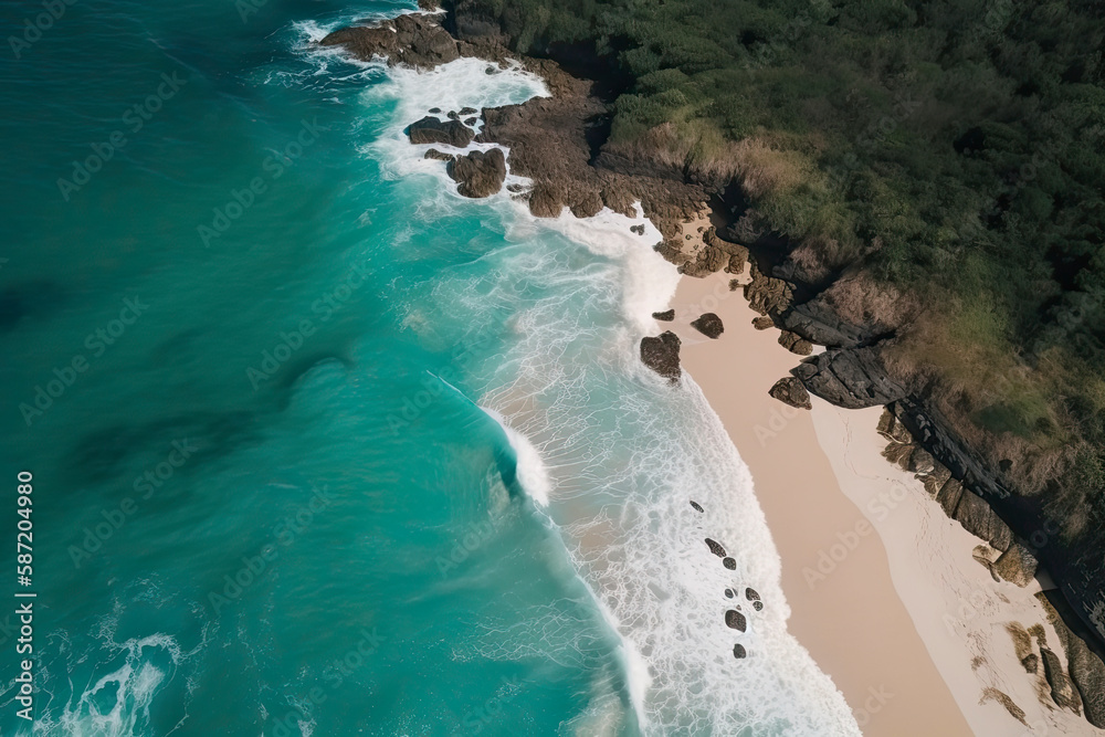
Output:
<instances>
[{"instance_id":1,"label":"smooth damp tan sand strip between white foam and paler dry sand","mask_svg":"<svg viewBox=\"0 0 1105 737\"><path fill-rule=\"evenodd\" d=\"M684 278L671 305L675 322L660 326L682 338L684 369L751 471L782 558L791 633L844 694L865 735L972 734L894 588L886 548L841 491L810 413L767 393L800 357L779 346L778 330L751 326L756 313L729 291L730 278ZM690 325L707 312L725 325L716 340Z\"/></svg>"}]
</instances>

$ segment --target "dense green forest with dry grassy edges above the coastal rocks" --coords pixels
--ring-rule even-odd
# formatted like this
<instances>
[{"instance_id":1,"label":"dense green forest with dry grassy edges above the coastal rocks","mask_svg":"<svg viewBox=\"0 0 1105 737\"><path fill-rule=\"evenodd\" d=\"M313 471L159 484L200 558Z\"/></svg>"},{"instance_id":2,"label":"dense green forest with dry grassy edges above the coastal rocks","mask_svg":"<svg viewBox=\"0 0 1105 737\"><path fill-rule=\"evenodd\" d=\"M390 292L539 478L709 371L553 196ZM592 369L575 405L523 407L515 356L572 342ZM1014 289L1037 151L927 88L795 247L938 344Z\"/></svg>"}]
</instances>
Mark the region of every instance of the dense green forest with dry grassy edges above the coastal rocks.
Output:
<instances>
[{"instance_id":1,"label":"dense green forest with dry grassy edges above the coastal rocks","mask_svg":"<svg viewBox=\"0 0 1105 737\"><path fill-rule=\"evenodd\" d=\"M738 177L814 284L862 264L919 298L903 351L968 439L1024 489L1101 493L1098 1L466 4L522 52L594 42L628 80L611 146Z\"/></svg>"}]
</instances>

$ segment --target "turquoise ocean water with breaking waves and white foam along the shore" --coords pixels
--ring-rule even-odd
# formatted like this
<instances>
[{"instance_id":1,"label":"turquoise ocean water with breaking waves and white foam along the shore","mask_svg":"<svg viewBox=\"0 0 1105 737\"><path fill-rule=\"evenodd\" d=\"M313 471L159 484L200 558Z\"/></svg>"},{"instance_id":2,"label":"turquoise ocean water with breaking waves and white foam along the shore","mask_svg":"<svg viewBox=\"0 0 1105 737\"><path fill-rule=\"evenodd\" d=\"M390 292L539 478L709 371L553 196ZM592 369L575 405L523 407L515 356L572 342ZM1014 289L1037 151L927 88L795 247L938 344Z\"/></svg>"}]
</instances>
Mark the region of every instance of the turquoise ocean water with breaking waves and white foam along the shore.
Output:
<instances>
[{"instance_id":1,"label":"turquoise ocean water with breaking waves and white foam along the shore","mask_svg":"<svg viewBox=\"0 0 1105 737\"><path fill-rule=\"evenodd\" d=\"M719 422L635 358L655 231L402 137L538 81L311 46L404 4L61 6L0 9L0 734L857 734Z\"/></svg>"}]
</instances>

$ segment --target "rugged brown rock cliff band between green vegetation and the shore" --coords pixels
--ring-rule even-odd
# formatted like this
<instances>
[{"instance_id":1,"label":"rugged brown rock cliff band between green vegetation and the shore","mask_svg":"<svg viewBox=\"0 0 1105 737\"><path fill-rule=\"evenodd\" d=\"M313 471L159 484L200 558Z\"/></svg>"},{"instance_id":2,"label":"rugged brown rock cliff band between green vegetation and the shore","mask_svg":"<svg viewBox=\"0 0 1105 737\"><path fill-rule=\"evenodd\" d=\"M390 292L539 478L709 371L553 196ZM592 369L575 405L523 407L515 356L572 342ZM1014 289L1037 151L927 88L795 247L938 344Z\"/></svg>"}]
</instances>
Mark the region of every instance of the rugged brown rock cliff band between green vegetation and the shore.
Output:
<instances>
[{"instance_id":1,"label":"rugged brown rock cliff band between green vegetation and the shore","mask_svg":"<svg viewBox=\"0 0 1105 737\"><path fill-rule=\"evenodd\" d=\"M753 280L745 296L783 331L780 341L792 350L799 344L806 351L811 345L825 347L793 369L788 386L794 390L780 393L798 396L797 380L810 393L841 407L888 407L930 455L934 467L939 464L947 471L941 488L951 481L961 487L958 492L949 487L944 495L949 516L999 549L1017 540L1031 550L1070 604L1060 613L1073 631L1091 641L1096 636L1094 644L1101 650L1105 642L1101 512L1072 505L1072 498L1081 497L1061 493L1054 475L1022 471L1009 442L981 430L961 407L955 388L918 358L917 336L930 325L916 295L881 282L862 260L827 270L823 260L811 259L817 243L791 239L757 210L757 187L747 171L703 166L690 152L680 159L673 156L671 139L659 135L644 136L633 146L613 141L610 118L628 82L613 54L600 53L596 43L540 38L519 43L509 18L490 13L478 2L449 2L444 10L443 15L401 15L373 28L343 29L322 43L420 69L469 55L487 60L492 73L515 60L540 75L551 97L480 112L483 127L475 140L507 147L511 171L534 182L514 196L524 198L538 217L559 214L564 208L577 217L592 215L602 207L625 212L640 201L664 236L657 251L690 275L729 270L734 260L743 269L749 259ZM514 51L519 46L527 53ZM471 138L460 128L474 135L463 123L452 128L453 138L440 143L466 144ZM451 166L451 171L460 172L454 178L478 168ZM478 196L491 189L473 191ZM715 222L704 235L706 248L686 254L677 240L680 223L706 208ZM677 376L677 367L665 371ZM1091 716L1090 709L1087 717L1105 726L1105 717Z\"/></svg>"}]
</instances>

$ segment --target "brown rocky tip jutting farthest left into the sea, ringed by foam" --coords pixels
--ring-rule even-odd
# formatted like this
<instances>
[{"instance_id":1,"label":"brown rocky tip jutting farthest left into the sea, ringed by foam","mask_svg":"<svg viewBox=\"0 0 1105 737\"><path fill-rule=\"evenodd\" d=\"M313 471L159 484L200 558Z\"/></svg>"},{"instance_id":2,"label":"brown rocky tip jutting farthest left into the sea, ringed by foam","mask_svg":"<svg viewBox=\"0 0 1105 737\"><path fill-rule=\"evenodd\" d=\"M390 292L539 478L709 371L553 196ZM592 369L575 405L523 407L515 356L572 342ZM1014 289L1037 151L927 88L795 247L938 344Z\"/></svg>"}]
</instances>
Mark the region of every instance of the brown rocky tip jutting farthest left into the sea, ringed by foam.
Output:
<instances>
[{"instance_id":1,"label":"brown rocky tip jutting farthest left into the sea, ringed by foam","mask_svg":"<svg viewBox=\"0 0 1105 737\"><path fill-rule=\"evenodd\" d=\"M429 70L459 59L456 40L435 15L406 13L371 25L339 29L318 42L345 46L365 61L383 57L389 64Z\"/></svg>"}]
</instances>

